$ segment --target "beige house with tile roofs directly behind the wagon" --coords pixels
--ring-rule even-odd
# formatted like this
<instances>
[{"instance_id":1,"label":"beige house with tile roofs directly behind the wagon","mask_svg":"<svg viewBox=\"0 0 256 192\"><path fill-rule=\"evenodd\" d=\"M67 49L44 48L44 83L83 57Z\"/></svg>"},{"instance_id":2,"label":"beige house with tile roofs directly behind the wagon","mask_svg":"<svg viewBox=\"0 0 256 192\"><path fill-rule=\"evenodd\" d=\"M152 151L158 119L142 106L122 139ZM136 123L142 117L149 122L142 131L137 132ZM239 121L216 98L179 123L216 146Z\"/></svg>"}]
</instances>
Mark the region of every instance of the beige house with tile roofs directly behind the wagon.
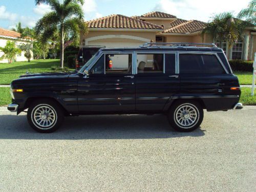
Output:
<instances>
[{"instance_id":1,"label":"beige house with tile roofs directly behind the wagon","mask_svg":"<svg viewBox=\"0 0 256 192\"><path fill-rule=\"evenodd\" d=\"M81 34L81 46L137 47L145 42L203 42L201 30L205 26L199 20L179 19L162 12L150 12L141 16L109 15L87 22L89 33ZM231 50L217 41L228 59L254 59L256 29L247 27L242 39ZM212 37L204 36L204 42Z\"/></svg>"}]
</instances>

